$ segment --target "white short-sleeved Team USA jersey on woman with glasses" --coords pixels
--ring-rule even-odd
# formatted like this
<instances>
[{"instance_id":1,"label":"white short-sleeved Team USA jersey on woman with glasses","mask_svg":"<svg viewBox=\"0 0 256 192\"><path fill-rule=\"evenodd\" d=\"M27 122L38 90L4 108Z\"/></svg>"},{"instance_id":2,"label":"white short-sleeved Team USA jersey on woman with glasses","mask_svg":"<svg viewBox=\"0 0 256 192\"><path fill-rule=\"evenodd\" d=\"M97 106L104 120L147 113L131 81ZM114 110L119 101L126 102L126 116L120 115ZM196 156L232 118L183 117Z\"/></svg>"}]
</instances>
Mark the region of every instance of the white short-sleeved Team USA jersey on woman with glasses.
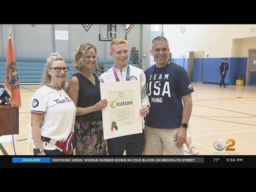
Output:
<instances>
[{"instance_id":1,"label":"white short-sleeved Team USA jersey on woman with glasses","mask_svg":"<svg viewBox=\"0 0 256 192\"><path fill-rule=\"evenodd\" d=\"M30 112L44 114L40 126L42 136L64 142L74 132L76 106L62 88L49 85L39 88L30 100ZM55 150L58 147L43 142L43 148Z\"/></svg>"}]
</instances>

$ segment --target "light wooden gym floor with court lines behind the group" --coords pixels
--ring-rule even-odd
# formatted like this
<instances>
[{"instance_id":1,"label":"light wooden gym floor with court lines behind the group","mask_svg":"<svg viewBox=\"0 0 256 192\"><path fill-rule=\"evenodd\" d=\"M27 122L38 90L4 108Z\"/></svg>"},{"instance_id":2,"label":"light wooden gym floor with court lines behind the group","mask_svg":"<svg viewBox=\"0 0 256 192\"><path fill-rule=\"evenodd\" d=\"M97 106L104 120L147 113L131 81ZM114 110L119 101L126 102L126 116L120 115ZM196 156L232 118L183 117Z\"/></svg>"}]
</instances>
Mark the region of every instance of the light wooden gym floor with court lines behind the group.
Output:
<instances>
[{"instance_id":1,"label":"light wooden gym floor with court lines behind the group","mask_svg":"<svg viewBox=\"0 0 256 192\"><path fill-rule=\"evenodd\" d=\"M256 87L229 85L220 88L218 84L200 82L192 82L192 85L192 144L200 151L199 155L256 154ZM19 110L17 155L27 154L29 101L39 87L40 85L20 85L22 107ZM214 141L218 139L227 142L220 152L214 149ZM228 139L233 141L228 142ZM230 144L233 146L229 146ZM12 154L10 143L2 145L8 154ZM230 149L235 150L228 151ZM189 155L186 146L184 150L184 155ZM0 155L3 155L1 150Z\"/></svg>"}]
</instances>

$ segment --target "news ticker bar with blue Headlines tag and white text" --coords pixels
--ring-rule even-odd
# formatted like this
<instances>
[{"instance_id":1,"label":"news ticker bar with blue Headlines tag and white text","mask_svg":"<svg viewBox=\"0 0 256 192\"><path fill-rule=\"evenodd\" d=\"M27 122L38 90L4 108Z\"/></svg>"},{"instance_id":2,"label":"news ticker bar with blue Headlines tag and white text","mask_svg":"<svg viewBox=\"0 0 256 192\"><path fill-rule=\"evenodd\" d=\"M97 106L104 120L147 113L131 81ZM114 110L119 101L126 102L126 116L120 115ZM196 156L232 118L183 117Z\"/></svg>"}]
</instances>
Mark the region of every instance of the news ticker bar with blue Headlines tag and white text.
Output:
<instances>
[{"instance_id":1,"label":"news ticker bar with blue Headlines tag and white text","mask_svg":"<svg viewBox=\"0 0 256 192\"><path fill-rule=\"evenodd\" d=\"M13 157L13 163L204 163L203 157Z\"/></svg>"}]
</instances>

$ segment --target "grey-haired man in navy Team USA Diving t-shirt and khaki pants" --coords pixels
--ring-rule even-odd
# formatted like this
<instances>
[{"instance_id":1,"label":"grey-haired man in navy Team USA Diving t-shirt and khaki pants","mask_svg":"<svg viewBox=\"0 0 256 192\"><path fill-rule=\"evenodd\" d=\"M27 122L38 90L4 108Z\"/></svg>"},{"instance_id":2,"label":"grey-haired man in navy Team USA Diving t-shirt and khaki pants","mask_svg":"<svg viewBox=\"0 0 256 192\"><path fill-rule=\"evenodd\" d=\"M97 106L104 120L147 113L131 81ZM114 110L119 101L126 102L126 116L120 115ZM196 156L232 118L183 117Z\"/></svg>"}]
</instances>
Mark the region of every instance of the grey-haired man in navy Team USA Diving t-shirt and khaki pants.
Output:
<instances>
[{"instance_id":1,"label":"grey-haired man in navy Team USA Diving t-shirt and khaki pants","mask_svg":"<svg viewBox=\"0 0 256 192\"><path fill-rule=\"evenodd\" d=\"M145 71L151 106L146 115L143 154L184 155L194 90L186 70L168 60L170 49L166 38L154 38L150 53L156 64Z\"/></svg>"}]
</instances>

